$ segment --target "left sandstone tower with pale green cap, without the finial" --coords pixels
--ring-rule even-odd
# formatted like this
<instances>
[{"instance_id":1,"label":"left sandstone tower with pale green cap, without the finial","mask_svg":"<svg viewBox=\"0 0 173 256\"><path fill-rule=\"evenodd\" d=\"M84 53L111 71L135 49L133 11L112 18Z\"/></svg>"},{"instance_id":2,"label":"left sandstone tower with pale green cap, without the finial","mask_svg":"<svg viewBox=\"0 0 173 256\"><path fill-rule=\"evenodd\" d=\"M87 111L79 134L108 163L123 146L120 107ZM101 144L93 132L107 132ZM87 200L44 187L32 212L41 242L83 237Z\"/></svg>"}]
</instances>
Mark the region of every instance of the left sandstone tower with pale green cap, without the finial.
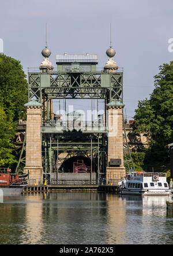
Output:
<instances>
[{"instance_id":1,"label":"left sandstone tower with pale green cap, without the finial","mask_svg":"<svg viewBox=\"0 0 173 256\"><path fill-rule=\"evenodd\" d=\"M43 182L42 140L40 133L42 104L32 100L25 104L27 108L26 161L24 173L36 185Z\"/></svg>"}]
</instances>

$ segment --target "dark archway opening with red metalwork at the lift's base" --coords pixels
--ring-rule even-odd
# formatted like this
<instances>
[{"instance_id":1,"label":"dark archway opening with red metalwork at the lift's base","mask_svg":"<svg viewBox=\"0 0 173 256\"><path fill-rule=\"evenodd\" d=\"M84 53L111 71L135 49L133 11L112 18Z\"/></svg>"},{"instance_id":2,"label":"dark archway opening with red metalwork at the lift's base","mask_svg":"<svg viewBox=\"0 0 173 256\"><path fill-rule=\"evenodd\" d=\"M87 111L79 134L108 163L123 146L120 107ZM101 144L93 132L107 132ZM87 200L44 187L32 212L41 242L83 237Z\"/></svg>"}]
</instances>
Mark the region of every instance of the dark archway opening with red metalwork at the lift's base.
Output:
<instances>
[{"instance_id":1,"label":"dark archway opening with red metalwork at the lift's base","mask_svg":"<svg viewBox=\"0 0 173 256\"><path fill-rule=\"evenodd\" d=\"M94 161L92 162L92 172L96 170ZM62 173L89 173L91 171L91 159L85 156L73 156L62 163L59 171Z\"/></svg>"}]
</instances>

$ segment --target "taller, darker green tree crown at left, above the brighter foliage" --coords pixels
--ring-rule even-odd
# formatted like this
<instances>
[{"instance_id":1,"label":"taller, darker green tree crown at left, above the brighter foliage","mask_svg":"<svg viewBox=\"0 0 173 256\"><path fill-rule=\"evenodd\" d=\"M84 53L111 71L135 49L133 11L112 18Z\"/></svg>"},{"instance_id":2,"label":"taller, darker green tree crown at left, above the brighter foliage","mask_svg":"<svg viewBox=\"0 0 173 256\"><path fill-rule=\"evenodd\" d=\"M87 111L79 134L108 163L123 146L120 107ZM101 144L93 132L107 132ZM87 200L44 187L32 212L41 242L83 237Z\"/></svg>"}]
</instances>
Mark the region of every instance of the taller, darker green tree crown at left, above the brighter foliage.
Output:
<instances>
[{"instance_id":1,"label":"taller, darker green tree crown at left, above the brighter foliage","mask_svg":"<svg viewBox=\"0 0 173 256\"><path fill-rule=\"evenodd\" d=\"M6 115L18 122L27 103L27 80L20 61L0 54L0 105Z\"/></svg>"}]
</instances>

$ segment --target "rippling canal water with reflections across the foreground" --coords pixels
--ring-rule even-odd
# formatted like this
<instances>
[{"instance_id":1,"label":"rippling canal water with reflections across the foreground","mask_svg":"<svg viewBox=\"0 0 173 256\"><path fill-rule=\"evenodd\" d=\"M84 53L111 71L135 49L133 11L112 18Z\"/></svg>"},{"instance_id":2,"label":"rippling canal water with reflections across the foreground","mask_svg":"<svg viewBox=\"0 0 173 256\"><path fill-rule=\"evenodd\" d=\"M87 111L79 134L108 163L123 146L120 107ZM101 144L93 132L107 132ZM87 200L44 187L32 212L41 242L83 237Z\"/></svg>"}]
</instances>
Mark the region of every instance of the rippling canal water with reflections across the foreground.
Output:
<instances>
[{"instance_id":1,"label":"rippling canal water with reflections across the foreground","mask_svg":"<svg viewBox=\"0 0 173 256\"><path fill-rule=\"evenodd\" d=\"M172 244L166 196L58 192L5 197L0 244Z\"/></svg>"}]
</instances>

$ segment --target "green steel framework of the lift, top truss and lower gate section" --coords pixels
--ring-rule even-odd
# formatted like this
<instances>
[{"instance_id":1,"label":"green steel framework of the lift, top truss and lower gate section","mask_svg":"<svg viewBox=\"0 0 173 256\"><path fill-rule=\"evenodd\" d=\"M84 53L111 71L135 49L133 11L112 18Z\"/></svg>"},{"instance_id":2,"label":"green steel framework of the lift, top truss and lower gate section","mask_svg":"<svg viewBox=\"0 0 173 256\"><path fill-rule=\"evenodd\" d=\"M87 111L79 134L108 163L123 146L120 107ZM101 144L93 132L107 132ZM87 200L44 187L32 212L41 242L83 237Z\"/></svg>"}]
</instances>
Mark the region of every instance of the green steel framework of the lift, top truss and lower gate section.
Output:
<instances>
[{"instance_id":1,"label":"green steel framework of the lift, top truss and lower gate section","mask_svg":"<svg viewBox=\"0 0 173 256\"><path fill-rule=\"evenodd\" d=\"M93 129L89 131L58 130L55 123L50 123L49 102L52 99L104 99L105 104L112 100L123 103L123 71L107 73L97 72L28 72L28 101L35 97L43 104L42 111L42 156L44 173L51 173L61 165L61 153L68 155L83 153L95 159L97 173L105 173L107 161L107 130ZM45 112L47 117L45 118ZM103 127L102 127L103 128ZM24 149L25 147L23 147ZM22 159L22 153L20 159ZM17 166L19 166L20 162Z\"/></svg>"}]
</instances>

